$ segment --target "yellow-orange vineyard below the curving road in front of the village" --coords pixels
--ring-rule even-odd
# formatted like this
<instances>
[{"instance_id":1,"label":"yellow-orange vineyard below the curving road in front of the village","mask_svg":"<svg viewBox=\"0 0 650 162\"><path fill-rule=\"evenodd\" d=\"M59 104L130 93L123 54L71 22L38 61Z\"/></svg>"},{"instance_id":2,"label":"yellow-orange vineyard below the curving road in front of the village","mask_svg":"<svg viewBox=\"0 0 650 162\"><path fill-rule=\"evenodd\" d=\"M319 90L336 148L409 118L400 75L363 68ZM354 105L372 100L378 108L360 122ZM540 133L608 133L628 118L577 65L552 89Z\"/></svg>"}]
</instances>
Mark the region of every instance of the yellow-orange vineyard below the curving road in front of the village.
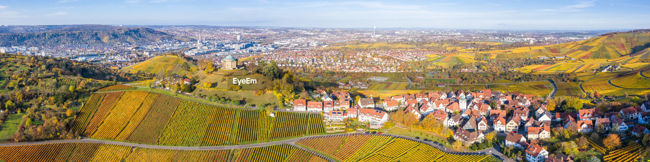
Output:
<instances>
[{"instance_id":1,"label":"yellow-orange vineyard below the curving road in front of the village","mask_svg":"<svg viewBox=\"0 0 650 162\"><path fill-rule=\"evenodd\" d=\"M296 144L339 161L494 161L488 155L458 155L433 146L387 135L327 135Z\"/></svg>"}]
</instances>

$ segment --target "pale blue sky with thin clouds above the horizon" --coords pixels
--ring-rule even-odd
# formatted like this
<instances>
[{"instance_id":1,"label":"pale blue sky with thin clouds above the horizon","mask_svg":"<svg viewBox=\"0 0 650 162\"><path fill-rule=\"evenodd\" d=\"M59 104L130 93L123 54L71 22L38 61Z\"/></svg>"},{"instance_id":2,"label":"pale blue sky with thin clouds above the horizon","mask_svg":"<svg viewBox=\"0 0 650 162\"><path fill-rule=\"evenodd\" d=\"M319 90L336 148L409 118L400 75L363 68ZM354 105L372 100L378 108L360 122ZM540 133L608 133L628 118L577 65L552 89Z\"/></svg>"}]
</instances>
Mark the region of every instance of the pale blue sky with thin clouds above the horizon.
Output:
<instances>
[{"instance_id":1,"label":"pale blue sky with thin clouds above the horizon","mask_svg":"<svg viewBox=\"0 0 650 162\"><path fill-rule=\"evenodd\" d=\"M1 0L0 25L647 29L650 1Z\"/></svg>"}]
</instances>

